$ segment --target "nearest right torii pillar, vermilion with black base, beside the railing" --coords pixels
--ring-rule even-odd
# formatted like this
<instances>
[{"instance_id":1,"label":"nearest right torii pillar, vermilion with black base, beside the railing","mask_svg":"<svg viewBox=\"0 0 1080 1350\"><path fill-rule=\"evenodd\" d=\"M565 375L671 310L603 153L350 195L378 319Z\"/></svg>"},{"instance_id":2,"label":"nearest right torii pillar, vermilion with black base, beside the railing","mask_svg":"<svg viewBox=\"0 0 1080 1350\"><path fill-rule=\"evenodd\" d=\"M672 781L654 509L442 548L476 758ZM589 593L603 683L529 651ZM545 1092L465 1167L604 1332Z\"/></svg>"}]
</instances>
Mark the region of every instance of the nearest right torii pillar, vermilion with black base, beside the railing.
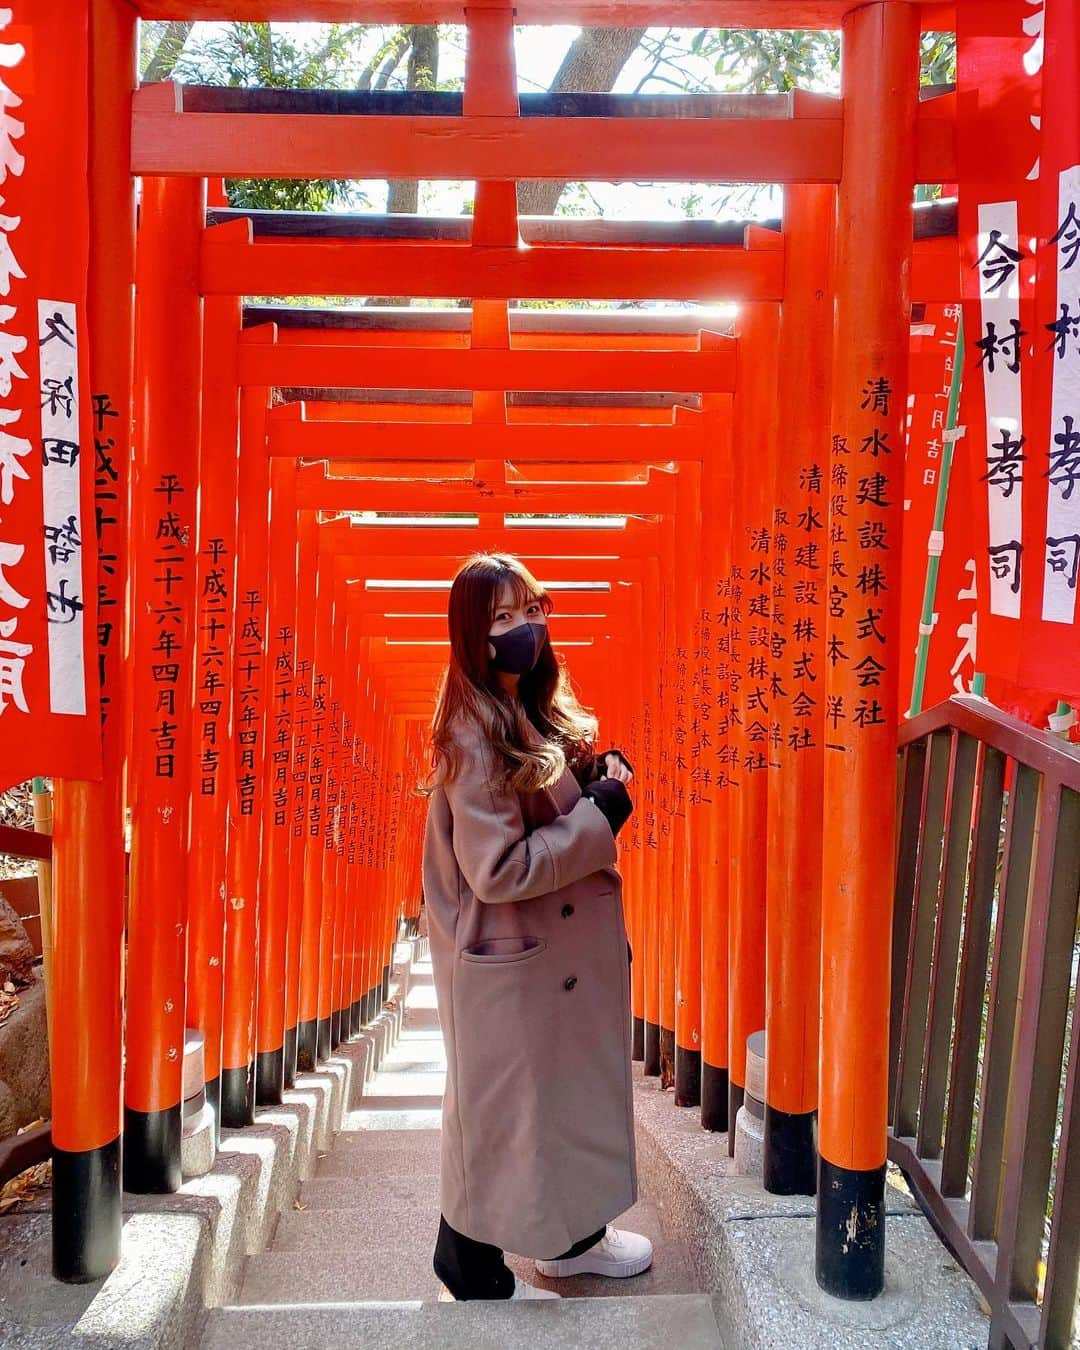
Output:
<instances>
[{"instance_id":1,"label":"nearest right torii pillar, vermilion with black base, beside the railing","mask_svg":"<svg viewBox=\"0 0 1080 1350\"><path fill-rule=\"evenodd\" d=\"M919 11L844 19L829 512L817 1278L884 1288L903 447Z\"/></svg>"}]
</instances>

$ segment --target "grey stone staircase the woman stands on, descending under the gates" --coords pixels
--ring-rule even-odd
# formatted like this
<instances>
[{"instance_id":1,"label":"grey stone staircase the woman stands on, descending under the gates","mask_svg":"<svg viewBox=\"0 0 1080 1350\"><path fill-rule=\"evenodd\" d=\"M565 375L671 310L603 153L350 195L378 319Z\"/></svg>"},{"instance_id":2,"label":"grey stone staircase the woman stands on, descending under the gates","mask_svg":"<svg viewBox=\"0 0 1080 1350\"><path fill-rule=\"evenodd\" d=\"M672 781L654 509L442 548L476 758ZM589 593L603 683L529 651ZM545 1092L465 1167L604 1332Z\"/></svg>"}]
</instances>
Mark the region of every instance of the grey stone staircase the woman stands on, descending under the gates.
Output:
<instances>
[{"instance_id":1,"label":"grey stone staircase the woman stands on, descending under the gates","mask_svg":"<svg viewBox=\"0 0 1080 1350\"><path fill-rule=\"evenodd\" d=\"M520 1276L563 1299L436 1303L431 1258L444 1073L431 965L418 961L397 1044L294 1207L279 1215L270 1249L248 1257L236 1301L208 1315L202 1350L722 1346L711 1300L666 1227L659 1196L643 1196L618 1220L653 1242L653 1265L643 1276L547 1281L531 1261L508 1257Z\"/></svg>"}]
</instances>

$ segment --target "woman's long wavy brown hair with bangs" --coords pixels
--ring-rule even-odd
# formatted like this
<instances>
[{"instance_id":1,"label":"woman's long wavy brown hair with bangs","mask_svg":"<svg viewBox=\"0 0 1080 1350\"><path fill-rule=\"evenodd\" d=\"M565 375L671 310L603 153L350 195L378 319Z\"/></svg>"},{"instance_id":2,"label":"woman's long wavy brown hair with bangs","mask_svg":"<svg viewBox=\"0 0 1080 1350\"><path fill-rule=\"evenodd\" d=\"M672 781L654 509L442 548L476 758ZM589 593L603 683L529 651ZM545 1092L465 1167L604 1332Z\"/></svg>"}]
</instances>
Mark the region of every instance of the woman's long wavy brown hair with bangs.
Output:
<instances>
[{"instance_id":1,"label":"woman's long wavy brown hair with bangs","mask_svg":"<svg viewBox=\"0 0 1080 1350\"><path fill-rule=\"evenodd\" d=\"M545 614L552 612L548 593L512 554L474 554L459 567L450 587L450 662L431 725L431 772L420 788L424 795L458 772L451 734L455 721L479 726L501 765L501 786L518 792L549 787L567 764L574 767L591 753L597 718L578 702L549 641L536 666L520 678L517 698L491 670L487 634L504 583L510 585L516 605L539 601ZM529 721L545 737L543 745L529 740Z\"/></svg>"}]
</instances>

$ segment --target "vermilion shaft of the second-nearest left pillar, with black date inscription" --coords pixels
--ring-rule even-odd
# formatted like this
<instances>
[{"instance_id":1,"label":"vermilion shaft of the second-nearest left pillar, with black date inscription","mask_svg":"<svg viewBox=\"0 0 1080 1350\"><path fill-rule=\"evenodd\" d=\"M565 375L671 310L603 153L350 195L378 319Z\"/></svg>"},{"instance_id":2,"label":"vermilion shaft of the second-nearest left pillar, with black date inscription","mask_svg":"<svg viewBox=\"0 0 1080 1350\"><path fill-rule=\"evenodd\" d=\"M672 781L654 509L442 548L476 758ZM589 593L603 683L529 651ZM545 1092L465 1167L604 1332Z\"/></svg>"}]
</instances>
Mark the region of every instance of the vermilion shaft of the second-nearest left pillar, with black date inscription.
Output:
<instances>
[{"instance_id":1,"label":"vermilion shaft of the second-nearest left pillar, with black date inscription","mask_svg":"<svg viewBox=\"0 0 1080 1350\"><path fill-rule=\"evenodd\" d=\"M192 599L194 595L194 504L200 432L201 304L194 290L194 236L204 211L201 182L144 180L139 224L138 294L140 360L135 416L142 428L132 479L132 749L128 799L132 807L127 968L124 1103L142 1115L178 1111L182 1099L188 740L192 720ZM157 772L154 728L162 721L162 695L153 667L159 662L161 625L154 608L163 475L174 474L184 495L173 494L180 537L169 603L180 606L171 625L176 659L176 756L171 776ZM166 526L166 532L170 526ZM167 710L167 707L166 707ZM151 1133L157 1133L151 1126ZM127 1162L138 1160L128 1150ZM180 1184L180 1156L155 1158L154 1188Z\"/></svg>"}]
</instances>

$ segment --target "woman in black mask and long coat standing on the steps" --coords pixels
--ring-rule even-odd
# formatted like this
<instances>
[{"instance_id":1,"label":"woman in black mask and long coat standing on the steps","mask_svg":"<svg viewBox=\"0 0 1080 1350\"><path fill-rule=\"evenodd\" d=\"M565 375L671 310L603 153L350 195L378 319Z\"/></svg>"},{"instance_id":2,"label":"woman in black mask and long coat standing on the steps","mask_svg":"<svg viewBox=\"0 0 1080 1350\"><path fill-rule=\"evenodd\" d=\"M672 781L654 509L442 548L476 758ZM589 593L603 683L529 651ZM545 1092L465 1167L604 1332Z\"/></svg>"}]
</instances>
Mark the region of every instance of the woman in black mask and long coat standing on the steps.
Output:
<instances>
[{"instance_id":1,"label":"woman in black mask and long coat standing on the steps","mask_svg":"<svg viewBox=\"0 0 1080 1350\"><path fill-rule=\"evenodd\" d=\"M594 765L597 721L552 651L551 601L506 554L450 591L432 724L424 896L447 1045L440 1297L558 1297L516 1280L632 1276L637 1199L628 945L616 833L632 774ZM576 771L576 775L575 775Z\"/></svg>"}]
</instances>

